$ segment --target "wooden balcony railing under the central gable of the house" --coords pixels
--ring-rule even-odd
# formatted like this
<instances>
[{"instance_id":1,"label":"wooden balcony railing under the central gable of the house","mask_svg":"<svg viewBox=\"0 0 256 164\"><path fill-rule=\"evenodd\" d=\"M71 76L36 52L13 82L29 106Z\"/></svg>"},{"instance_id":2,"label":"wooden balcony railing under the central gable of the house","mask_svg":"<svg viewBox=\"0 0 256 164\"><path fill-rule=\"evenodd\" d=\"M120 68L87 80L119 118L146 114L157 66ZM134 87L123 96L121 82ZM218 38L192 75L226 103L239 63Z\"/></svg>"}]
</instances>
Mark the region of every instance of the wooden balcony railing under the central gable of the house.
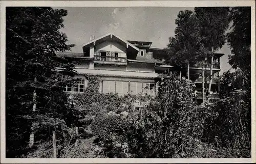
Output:
<instances>
[{"instance_id":1,"label":"wooden balcony railing under the central gable of the house","mask_svg":"<svg viewBox=\"0 0 256 164\"><path fill-rule=\"evenodd\" d=\"M127 65L127 58L94 56L94 63Z\"/></svg>"}]
</instances>

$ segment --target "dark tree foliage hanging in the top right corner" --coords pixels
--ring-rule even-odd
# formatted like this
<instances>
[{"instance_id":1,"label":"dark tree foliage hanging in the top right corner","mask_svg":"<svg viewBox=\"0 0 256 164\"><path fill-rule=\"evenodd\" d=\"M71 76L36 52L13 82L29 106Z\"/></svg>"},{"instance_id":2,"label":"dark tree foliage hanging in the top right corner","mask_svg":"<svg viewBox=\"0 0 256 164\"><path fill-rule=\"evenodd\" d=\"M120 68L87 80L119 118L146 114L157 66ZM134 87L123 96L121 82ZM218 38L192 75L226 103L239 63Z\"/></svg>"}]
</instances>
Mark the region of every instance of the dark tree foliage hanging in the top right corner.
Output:
<instances>
[{"instance_id":1,"label":"dark tree foliage hanging in the top right corner","mask_svg":"<svg viewBox=\"0 0 256 164\"><path fill-rule=\"evenodd\" d=\"M234 69L250 73L251 64L251 8L233 7L231 32L227 33L227 42L231 48L228 63Z\"/></svg>"}]
</instances>

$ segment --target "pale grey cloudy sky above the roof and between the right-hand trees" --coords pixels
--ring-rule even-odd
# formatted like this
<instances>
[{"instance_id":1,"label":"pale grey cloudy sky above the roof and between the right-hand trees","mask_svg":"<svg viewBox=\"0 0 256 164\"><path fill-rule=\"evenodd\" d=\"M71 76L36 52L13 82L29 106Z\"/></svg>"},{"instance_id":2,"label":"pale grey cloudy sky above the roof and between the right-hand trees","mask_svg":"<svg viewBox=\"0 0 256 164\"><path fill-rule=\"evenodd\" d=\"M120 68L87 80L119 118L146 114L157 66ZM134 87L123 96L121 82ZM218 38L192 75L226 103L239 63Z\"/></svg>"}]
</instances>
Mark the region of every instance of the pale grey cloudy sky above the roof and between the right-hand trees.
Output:
<instances>
[{"instance_id":1,"label":"pale grey cloudy sky above the roof and between the right-hand trees","mask_svg":"<svg viewBox=\"0 0 256 164\"><path fill-rule=\"evenodd\" d=\"M54 7L54 9L60 9ZM125 40L151 41L152 46L164 48L168 38L174 36L175 19L179 11L194 8L181 7L61 7L68 11L63 17L64 28L60 31L68 36L68 43L75 44L72 52L82 52L82 44L90 41L90 36L98 38L114 33ZM221 72L229 70L227 44L219 51Z\"/></svg>"}]
</instances>

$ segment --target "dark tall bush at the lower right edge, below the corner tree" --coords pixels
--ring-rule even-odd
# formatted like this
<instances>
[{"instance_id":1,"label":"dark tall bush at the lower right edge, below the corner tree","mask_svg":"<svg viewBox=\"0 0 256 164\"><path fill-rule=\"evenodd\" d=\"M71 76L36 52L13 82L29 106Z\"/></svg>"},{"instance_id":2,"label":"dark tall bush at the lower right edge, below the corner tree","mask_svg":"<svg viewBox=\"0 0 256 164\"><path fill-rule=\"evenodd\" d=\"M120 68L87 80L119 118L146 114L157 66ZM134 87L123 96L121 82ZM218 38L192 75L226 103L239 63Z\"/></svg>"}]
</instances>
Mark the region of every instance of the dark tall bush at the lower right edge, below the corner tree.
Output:
<instances>
[{"instance_id":1,"label":"dark tall bush at the lower right edge, below the corner tree","mask_svg":"<svg viewBox=\"0 0 256 164\"><path fill-rule=\"evenodd\" d=\"M209 125L205 128L204 141L215 143L220 148L250 151L250 80L241 71L226 72L223 74L221 86L222 99L214 108L217 116L209 120Z\"/></svg>"}]
</instances>

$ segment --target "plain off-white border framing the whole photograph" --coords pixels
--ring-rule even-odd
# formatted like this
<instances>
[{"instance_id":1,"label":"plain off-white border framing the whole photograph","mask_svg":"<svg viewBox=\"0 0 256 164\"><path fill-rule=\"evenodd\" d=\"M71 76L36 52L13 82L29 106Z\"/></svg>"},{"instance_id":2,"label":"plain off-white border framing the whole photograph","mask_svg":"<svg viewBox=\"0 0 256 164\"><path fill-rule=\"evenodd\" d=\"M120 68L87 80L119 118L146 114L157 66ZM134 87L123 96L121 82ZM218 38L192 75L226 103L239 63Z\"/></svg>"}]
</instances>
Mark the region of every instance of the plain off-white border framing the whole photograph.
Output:
<instances>
[{"instance_id":1,"label":"plain off-white border framing the whole photograph","mask_svg":"<svg viewBox=\"0 0 256 164\"><path fill-rule=\"evenodd\" d=\"M1 163L211 163L211 162L256 162L255 159L255 1L0 1L1 4ZM251 6L251 100L252 100L252 157L251 158L87 158L87 159L36 159L5 158L5 7L6 6L51 6L51 7L221 7Z\"/></svg>"}]
</instances>

